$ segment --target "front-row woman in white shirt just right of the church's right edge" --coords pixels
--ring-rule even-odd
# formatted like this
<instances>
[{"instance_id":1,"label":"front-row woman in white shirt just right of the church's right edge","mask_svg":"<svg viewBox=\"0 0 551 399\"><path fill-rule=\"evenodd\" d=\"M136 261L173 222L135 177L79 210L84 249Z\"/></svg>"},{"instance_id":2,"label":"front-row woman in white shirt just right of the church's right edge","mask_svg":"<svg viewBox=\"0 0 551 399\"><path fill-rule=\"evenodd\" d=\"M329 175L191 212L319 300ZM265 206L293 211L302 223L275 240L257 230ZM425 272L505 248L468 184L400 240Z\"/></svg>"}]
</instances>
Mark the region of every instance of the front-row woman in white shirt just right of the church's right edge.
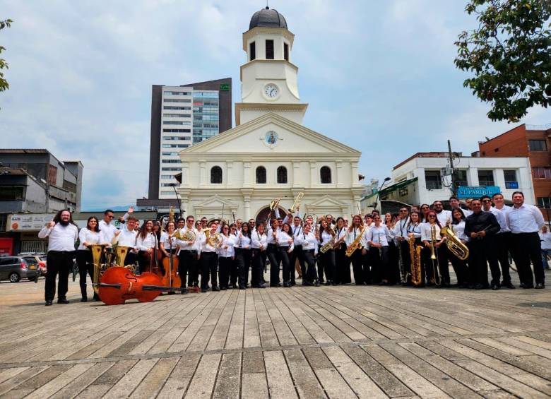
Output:
<instances>
[{"instance_id":1,"label":"front-row woman in white shirt just right of the church's right edge","mask_svg":"<svg viewBox=\"0 0 551 399\"><path fill-rule=\"evenodd\" d=\"M389 242L392 237L389 228L381 224L381 215L374 215L375 225L367 232L369 256L371 258L372 282L375 284L392 285L394 270L389 268Z\"/></svg>"}]
</instances>

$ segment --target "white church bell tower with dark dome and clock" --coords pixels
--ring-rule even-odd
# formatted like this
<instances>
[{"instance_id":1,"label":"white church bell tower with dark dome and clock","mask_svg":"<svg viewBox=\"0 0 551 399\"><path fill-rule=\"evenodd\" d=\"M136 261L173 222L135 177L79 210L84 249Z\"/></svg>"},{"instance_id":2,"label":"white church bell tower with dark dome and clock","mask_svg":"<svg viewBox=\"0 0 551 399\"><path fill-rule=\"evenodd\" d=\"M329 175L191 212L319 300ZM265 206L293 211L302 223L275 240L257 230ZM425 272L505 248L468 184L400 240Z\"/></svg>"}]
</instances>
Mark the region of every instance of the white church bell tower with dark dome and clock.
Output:
<instances>
[{"instance_id":1,"label":"white church bell tower with dark dome and clock","mask_svg":"<svg viewBox=\"0 0 551 399\"><path fill-rule=\"evenodd\" d=\"M235 104L235 123L243 124L268 112L302 124L307 104L300 102L297 74L292 64L295 35L278 11L256 11L243 33L247 61L241 66L241 101Z\"/></svg>"}]
</instances>

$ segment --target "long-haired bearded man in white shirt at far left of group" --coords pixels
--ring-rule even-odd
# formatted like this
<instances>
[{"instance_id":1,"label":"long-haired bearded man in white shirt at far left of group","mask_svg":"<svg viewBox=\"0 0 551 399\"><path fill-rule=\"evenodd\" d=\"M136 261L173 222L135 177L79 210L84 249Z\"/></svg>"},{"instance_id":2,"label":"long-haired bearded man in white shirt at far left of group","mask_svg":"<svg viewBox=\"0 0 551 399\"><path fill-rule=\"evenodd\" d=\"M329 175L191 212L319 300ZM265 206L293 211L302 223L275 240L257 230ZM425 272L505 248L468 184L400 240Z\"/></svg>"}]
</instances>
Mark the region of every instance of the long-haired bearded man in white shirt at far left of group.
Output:
<instances>
[{"instance_id":1,"label":"long-haired bearded man in white shirt at far left of group","mask_svg":"<svg viewBox=\"0 0 551 399\"><path fill-rule=\"evenodd\" d=\"M60 210L54 220L49 222L38 233L39 238L48 237L47 265L48 273L45 284L46 306L51 306L56 294L56 276L59 273L57 283L57 303L68 304L66 298L69 285L69 270L73 266L75 257L75 242L78 239L78 227L73 222L73 216L69 210Z\"/></svg>"}]
</instances>

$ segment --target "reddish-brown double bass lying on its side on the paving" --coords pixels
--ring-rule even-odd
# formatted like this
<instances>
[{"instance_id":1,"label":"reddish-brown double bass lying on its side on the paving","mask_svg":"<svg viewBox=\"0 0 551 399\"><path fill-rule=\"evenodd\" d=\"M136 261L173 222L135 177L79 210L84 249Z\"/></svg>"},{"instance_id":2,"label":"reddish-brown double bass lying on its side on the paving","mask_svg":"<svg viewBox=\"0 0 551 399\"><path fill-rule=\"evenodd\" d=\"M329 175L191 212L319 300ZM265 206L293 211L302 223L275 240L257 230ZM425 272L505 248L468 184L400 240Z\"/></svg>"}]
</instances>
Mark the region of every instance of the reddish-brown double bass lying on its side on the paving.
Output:
<instances>
[{"instance_id":1,"label":"reddish-brown double bass lying on its side on the paving","mask_svg":"<svg viewBox=\"0 0 551 399\"><path fill-rule=\"evenodd\" d=\"M98 295L106 305L124 304L128 299L138 302L151 302L163 291L172 291L172 287L162 285L155 273L134 275L127 268L114 266L105 270L101 280L96 284Z\"/></svg>"}]
</instances>

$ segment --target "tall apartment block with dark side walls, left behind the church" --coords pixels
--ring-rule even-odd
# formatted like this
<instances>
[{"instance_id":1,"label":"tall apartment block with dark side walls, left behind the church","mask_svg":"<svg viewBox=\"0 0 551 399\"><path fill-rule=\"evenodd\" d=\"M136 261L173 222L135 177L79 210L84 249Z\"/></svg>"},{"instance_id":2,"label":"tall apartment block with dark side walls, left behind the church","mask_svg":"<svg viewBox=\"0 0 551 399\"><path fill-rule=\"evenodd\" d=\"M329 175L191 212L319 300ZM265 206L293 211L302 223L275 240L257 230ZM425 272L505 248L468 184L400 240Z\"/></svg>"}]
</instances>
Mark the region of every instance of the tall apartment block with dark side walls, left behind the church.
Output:
<instances>
[{"instance_id":1,"label":"tall apartment block with dark side walls, left behind the church","mask_svg":"<svg viewBox=\"0 0 551 399\"><path fill-rule=\"evenodd\" d=\"M232 127L232 79L181 86L153 85L148 200L138 206L173 205L178 152Z\"/></svg>"}]
</instances>

